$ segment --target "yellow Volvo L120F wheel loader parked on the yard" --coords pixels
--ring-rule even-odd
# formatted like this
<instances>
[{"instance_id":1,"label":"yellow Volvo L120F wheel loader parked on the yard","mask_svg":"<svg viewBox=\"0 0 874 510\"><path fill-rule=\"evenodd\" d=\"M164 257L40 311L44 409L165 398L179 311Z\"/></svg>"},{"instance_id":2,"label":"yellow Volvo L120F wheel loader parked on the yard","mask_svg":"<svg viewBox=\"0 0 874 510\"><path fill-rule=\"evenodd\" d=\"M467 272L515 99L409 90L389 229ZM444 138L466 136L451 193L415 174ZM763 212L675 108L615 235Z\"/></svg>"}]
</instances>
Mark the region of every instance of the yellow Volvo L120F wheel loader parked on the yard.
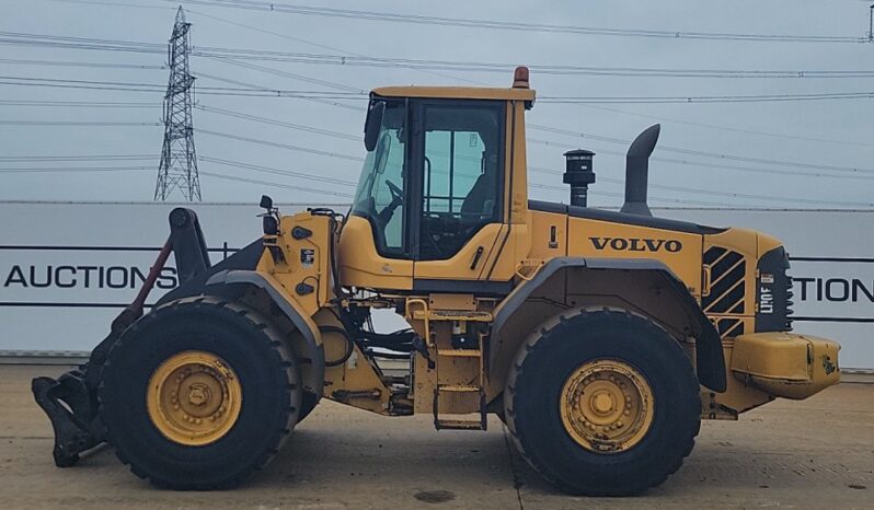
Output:
<instances>
[{"instance_id":1,"label":"yellow Volvo L120F wheel loader parked on the yard","mask_svg":"<svg viewBox=\"0 0 874 510\"><path fill-rule=\"evenodd\" d=\"M533 104L526 68L507 89L373 90L350 210L280 216L265 196L263 235L216 265L173 210L88 363L33 381L57 465L107 442L159 486L227 487L329 398L437 429L494 414L560 489L633 495L680 467L702 419L838 382L839 346L790 333L778 240L652 216L658 126L628 151L621 212L587 207L584 150L566 154L570 205L529 200ZM143 315L171 253L180 286ZM381 309L410 327L377 331Z\"/></svg>"}]
</instances>

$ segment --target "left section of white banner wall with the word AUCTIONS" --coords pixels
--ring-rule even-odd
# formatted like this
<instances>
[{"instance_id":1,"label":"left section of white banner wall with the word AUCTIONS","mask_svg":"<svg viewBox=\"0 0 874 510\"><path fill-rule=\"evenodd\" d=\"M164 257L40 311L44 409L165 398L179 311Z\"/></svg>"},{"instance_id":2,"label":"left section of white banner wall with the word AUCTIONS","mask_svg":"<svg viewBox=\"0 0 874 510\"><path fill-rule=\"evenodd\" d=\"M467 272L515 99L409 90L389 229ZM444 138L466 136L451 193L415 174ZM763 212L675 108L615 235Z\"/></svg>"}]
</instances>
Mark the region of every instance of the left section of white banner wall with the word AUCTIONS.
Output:
<instances>
[{"instance_id":1,"label":"left section of white banner wall with the word AUCTIONS","mask_svg":"<svg viewBox=\"0 0 874 510\"><path fill-rule=\"evenodd\" d=\"M179 206L0 202L0 350L91 350L136 297ZM214 262L261 234L256 205L193 208ZM147 304L175 285L171 256Z\"/></svg>"}]
</instances>

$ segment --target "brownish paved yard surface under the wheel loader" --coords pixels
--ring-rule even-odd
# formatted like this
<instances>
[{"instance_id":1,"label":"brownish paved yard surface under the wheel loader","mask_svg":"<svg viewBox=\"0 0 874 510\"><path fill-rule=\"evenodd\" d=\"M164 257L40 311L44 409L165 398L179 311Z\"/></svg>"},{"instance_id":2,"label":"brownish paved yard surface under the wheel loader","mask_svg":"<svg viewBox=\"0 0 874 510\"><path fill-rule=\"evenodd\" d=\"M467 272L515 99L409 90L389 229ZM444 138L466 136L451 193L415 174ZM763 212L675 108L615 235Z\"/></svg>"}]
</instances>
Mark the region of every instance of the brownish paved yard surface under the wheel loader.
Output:
<instances>
[{"instance_id":1,"label":"brownish paved yard surface under the wheel loader","mask_svg":"<svg viewBox=\"0 0 874 510\"><path fill-rule=\"evenodd\" d=\"M874 509L874 384L778 401L738 422L705 421L679 473L645 496L589 499L542 483L487 432L435 431L321 404L264 472L235 490L174 492L128 473L111 450L58 470L30 380L60 367L0 366L0 508L844 508Z\"/></svg>"}]
</instances>

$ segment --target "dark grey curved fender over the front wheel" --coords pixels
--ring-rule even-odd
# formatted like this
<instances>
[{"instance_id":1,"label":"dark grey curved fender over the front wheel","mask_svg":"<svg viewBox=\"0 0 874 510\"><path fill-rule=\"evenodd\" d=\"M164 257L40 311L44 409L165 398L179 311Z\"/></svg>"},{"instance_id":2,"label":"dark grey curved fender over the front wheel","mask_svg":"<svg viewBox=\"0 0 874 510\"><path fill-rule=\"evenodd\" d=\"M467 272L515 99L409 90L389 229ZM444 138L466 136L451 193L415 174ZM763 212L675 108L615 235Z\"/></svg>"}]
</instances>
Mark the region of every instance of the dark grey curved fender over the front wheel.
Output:
<instances>
[{"instance_id":1,"label":"dark grey curved fender over the front wheel","mask_svg":"<svg viewBox=\"0 0 874 510\"><path fill-rule=\"evenodd\" d=\"M324 389L324 348L322 347L322 336L319 326L312 318L302 313L289 295L281 283L272 276L253 270L225 270L212 275L206 281L207 293L209 288L223 286L254 286L264 290L271 301L291 321L297 331L303 337L303 351L296 352L299 358L308 359L307 368L301 370L303 387L321 398Z\"/></svg>"}]
</instances>

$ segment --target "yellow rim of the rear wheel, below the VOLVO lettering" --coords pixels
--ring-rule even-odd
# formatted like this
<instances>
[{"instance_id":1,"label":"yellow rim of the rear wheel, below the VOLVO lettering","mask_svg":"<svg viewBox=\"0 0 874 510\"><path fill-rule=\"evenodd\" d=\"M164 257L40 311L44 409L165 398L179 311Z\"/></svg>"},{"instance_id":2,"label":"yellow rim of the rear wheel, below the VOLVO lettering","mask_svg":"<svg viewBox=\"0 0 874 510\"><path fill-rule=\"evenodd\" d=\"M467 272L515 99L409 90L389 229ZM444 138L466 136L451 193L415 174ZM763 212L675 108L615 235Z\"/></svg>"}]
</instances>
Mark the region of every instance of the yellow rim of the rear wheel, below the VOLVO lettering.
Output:
<instances>
[{"instance_id":1,"label":"yellow rim of the rear wheel, below the VOLVO lettering","mask_svg":"<svg viewBox=\"0 0 874 510\"><path fill-rule=\"evenodd\" d=\"M617 360L590 361L564 383L560 409L565 430L598 453L628 450L653 425L653 389L641 372Z\"/></svg>"}]
</instances>

